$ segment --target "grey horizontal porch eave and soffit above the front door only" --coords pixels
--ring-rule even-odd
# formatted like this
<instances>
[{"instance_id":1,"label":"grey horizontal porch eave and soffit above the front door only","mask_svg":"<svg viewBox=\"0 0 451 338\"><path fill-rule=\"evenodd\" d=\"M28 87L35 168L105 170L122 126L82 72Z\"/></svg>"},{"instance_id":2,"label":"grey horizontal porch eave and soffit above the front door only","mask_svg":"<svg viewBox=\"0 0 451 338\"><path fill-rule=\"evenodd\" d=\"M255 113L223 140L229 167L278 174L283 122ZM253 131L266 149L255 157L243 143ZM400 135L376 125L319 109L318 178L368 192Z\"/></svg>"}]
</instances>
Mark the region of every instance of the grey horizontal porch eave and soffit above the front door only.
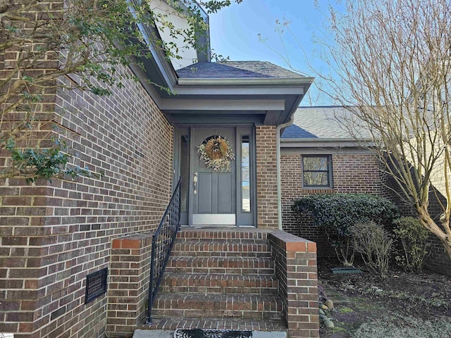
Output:
<instances>
[{"instance_id":1,"label":"grey horizontal porch eave and soffit above the front door only","mask_svg":"<svg viewBox=\"0 0 451 338\"><path fill-rule=\"evenodd\" d=\"M179 78L175 96L161 99L161 110L172 123L199 119L214 123L252 122L280 125L290 120L307 92L311 78ZM196 116L197 118L194 118Z\"/></svg>"}]
</instances>

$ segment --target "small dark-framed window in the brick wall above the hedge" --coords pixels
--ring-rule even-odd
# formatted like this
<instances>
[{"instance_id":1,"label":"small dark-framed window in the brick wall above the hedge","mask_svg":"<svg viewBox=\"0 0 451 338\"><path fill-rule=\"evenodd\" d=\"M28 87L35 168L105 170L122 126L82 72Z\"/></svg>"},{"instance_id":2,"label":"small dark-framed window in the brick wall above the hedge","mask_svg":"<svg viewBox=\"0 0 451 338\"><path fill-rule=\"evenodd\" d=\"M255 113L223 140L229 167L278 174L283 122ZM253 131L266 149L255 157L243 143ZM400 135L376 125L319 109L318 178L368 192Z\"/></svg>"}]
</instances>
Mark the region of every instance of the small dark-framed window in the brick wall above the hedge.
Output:
<instances>
[{"instance_id":1,"label":"small dark-framed window in the brick wall above the hedge","mask_svg":"<svg viewBox=\"0 0 451 338\"><path fill-rule=\"evenodd\" d=\"M331 188L332 158L330 155L302 156L302 187Z\"/></svg>"}]
</instances>

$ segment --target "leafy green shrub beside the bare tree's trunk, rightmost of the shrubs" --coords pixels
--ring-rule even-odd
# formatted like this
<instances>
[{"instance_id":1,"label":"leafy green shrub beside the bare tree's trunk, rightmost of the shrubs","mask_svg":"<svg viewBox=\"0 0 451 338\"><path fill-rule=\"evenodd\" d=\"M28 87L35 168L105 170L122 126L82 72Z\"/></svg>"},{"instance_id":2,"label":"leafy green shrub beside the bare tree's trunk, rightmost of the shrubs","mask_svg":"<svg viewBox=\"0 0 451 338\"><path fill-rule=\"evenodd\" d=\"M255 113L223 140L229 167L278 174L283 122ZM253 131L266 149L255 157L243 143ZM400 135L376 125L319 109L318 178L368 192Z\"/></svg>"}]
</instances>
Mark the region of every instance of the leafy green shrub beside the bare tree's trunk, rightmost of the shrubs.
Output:
<instances>
[{"instance_id":1,"label":"leafy green shrub beside the bare tree's trunk, rightmost of the shrubs","mask_svg":"<svg viewBox=\"0 0 451 338\"><path fill-rule=\"evenodd\" d=\"M400 217L393 224L393 232L402 244L395 256L397 263L407 271L421 271L429 256L428 230L414 217Z\"/></svg>"}]
</instances>

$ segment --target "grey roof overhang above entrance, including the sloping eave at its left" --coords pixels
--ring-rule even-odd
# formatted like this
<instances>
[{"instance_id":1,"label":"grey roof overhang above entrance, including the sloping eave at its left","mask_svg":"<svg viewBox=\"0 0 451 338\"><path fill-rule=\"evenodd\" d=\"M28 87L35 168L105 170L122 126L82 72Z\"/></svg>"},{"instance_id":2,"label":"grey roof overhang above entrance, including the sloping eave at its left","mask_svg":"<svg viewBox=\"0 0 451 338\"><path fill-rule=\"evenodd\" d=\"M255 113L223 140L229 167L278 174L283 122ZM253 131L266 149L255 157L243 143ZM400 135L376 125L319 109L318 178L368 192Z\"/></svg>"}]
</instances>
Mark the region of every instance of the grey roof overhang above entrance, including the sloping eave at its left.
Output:
<instances>
[{"instance_id":1,"label":"grey roof overhang above entrance, including the sloping eave at its left","mask_svg":"<svg viewBox=\"0 0 451 338\"><path fill-rule=\"evenodd\" d=\"M168 121L185 123L254 123L280 125L290 120L313 77L180 78L161 49L149 39L154 27L140 27L152 58L132 65L142 85Z\"/></svg>"}]
</instances>

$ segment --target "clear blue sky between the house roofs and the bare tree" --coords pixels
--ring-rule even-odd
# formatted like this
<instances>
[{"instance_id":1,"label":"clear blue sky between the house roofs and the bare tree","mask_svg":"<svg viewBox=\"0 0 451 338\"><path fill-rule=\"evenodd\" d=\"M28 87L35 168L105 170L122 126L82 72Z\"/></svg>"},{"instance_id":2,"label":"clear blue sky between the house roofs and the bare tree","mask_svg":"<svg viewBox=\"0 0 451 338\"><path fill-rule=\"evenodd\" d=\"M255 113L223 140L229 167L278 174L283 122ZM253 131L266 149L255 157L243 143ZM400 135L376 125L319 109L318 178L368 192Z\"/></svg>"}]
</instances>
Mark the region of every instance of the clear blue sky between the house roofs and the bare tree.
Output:
<instances>
[{"instance_id":1,"label":"clear blue sky between the house roofs and the bare tree","mask_svg":"<svg viewBox=\"0 0 451 338\"><path fill-rule=\"evenodd\" d=\"M216 54L229 56L232 61L269 61L288 68L278 51L283 51L293 68L304 75L314 76L309 63L317 70L326 65L316 56L319 46L314 45L314 35L320 35L328 13L329 0L243 0L232 4L216 14L210 15L211 48ZM319 7L319 8L318 8ZM290 30L297 38L283 33L282 40L276 32L276 20L289 20ZM259 42L259 35L266 39L266 45ZM285 47L284 47L285 46ZM271 48L270 48L271 47ZM285 51L286 53L285 53ZM311 87L311 99L305 98L302 106L330 104L325 94Z\"/></svg>"}]
</instances>

